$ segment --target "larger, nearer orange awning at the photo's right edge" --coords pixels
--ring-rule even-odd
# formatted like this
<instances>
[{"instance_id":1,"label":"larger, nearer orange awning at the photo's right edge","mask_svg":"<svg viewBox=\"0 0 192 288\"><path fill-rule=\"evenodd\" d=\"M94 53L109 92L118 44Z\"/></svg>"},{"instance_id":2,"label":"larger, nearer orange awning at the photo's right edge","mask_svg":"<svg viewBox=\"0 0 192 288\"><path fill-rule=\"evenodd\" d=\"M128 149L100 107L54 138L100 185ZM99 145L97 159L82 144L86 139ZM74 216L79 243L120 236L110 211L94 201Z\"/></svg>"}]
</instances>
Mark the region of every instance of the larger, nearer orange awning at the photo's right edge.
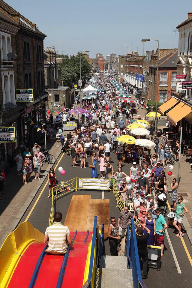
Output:
<instances>
[{"instance_id":1,"label":"larger, nearer orange awning at the photo's right edge","mask_svg":"<svg viewBox=\"0 0 192 288\"><path fill-rule=\"evenodd\" d=\"M177 125L181 119L187 116L190 112L192 112L192 107L185 104L184 102L180 102L176 105L171 111L167 113L167 119L174 125Z\"/></svg>"}]
</instances>

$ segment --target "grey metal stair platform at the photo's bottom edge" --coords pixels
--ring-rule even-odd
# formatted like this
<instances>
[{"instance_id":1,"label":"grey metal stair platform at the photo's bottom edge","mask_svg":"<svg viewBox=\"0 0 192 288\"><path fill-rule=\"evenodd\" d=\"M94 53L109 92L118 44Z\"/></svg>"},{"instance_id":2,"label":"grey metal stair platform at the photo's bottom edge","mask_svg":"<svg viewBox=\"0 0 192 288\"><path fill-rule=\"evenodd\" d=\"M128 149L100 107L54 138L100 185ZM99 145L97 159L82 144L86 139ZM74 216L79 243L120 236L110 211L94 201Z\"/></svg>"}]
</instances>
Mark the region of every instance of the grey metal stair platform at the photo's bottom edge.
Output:
<instances>
[{"instance_id":1,"label":"grey metal stair platform at the photo's bottom edge","mask_svg":"<svg viewBox=\"0 0 192 288\"><path fill-rule=\"evenodd\" d=\"M95 275L95 288L133 288L132 269L98 268Z\"/></svg>"}]
</instances>

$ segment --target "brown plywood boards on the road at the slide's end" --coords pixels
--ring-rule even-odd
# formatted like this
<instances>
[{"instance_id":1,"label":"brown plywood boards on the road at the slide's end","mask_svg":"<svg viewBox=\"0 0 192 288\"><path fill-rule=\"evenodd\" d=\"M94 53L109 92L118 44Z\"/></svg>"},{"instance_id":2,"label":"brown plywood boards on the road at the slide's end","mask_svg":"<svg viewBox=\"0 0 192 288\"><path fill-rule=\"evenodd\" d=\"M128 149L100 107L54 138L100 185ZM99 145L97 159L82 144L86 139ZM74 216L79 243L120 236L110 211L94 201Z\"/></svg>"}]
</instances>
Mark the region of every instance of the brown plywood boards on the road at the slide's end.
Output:
<instances>
[{"instance_id":1,"label":"brown plywood boards on the road at the slide's end","mask_svg":"<svg viewBox=\"0 0 192 288\"><path fill-rule=\"evenodd\" d=\"M64 225L70 231L93 231L94 217L107 237L109 226L109 199L91 199L91 195L73 195L65 218Z\"/></svg>"}]
</instances>

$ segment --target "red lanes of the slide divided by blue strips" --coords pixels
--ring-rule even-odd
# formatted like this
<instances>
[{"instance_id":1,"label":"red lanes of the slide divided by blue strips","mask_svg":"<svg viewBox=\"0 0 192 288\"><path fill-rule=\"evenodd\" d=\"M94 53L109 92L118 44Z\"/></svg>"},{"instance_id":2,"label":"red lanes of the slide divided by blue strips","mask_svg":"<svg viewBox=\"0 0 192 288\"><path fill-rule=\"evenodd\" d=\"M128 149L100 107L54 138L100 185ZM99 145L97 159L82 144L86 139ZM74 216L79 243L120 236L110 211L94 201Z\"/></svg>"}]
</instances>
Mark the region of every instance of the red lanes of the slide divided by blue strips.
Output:
<instances>
[{"instance_id":1,"label":"red lanes of the slide divided by blue strips","mask_svg":"<svg viewBox=\"0 0 192 288\"><path fill-rule=\"evenodd\" d=\"M71 238L73 235L74 232L71 232ZM63 287L64 285L76 288L82 287L88 246L91 241L92 232L89 232L87 237L86 235L87 232L77 232L75 243L73 244L72 250L70 250L67 267L64 271ZM85 238L87 238L86 243L84 243ZM27 248L19 260L8 288L29 287L36 263L45 245L44 243L33 243ZM55 288L62 262L63 256L61 255L45 254L34 287Z\"/></svg>"}]
</instances>

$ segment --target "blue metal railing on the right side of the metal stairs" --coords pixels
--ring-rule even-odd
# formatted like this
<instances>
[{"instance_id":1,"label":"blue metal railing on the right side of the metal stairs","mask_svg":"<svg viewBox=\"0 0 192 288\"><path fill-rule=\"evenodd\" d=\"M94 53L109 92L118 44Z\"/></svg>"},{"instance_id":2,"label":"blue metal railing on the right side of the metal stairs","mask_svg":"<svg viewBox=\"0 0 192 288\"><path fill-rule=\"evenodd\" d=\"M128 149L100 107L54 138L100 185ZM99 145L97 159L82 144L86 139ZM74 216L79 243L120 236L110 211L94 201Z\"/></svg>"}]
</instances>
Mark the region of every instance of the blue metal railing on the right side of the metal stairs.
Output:
<instances>
[{"instance_id":1,"label":"blue metal railing on the right side of the metal stairs","mask_svg":"<svg viewBox=\"0 0 192 288\"><path fill-rule=\"evenodd\" d=\"M127 229L126 252L127 252L128 268L132 269L134 288L147 288L141 276L134 219L131 219L131 238L129 234L129 226Z\"/></svg>"}]
</instances>

